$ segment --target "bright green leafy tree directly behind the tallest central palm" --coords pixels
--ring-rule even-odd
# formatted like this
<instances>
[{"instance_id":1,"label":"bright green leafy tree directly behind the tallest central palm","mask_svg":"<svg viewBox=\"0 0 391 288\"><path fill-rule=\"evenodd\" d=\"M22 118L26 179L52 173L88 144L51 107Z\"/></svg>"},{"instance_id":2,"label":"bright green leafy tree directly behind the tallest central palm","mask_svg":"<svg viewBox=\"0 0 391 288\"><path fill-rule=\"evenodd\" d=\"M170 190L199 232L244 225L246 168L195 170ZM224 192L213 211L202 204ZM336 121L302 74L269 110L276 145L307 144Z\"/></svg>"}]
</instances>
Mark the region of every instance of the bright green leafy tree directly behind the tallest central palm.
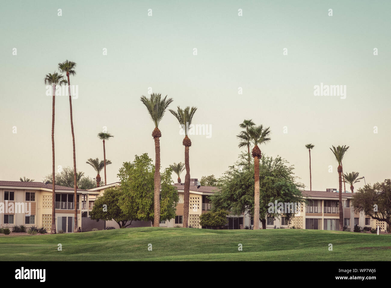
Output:
<instances>
[{"instance_id":1,"label":"bright green leafy tree directly behind the tallest central palm","mask_svg":"<svg viewBox=\"0 0 391 288\"><path fill-rule=\"evenodd\" d=\"M124 162L119 170L118 177L125 195L119 201L119 206L123 211L134 214L135 220L154 222L154 173L155 167L147 153L136 155L133 164ZM176 216L179 195L171 185L171 174L170 168L161 174L160 220L157 218L156 221L170 220Z\"/></svg>"}]
</instances>

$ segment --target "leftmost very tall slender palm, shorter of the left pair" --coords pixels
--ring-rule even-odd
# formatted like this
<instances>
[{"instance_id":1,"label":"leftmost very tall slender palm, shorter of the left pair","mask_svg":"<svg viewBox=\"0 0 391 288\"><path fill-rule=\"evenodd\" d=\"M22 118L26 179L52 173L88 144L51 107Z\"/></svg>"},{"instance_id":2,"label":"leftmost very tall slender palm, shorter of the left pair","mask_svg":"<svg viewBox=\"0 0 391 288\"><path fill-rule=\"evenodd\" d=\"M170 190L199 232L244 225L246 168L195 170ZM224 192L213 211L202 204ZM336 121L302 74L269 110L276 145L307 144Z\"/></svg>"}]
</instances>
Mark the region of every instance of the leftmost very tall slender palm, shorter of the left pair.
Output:
<instances>
[{"instance_id":1,"label":"leftmost very tall slender palm, shorter of the left pair","mask_svg":"<svg viewBox=\"0 0 391 288\"><path fill-rule=\"evenodd\" d=\"M54 169L54 107L55 107L55 97L56 97L56 85L65 85L68 83L64 76L53 72L53 74L46 74L43 79L45 85L52 85L53 88L53 99L52 99L52 174L53 174L53 184L52 184L52 227L50 228L50 234L56 234L56 207L55 207L55 196L56 196L56 171Z\"/></svg>"}]
</instances>

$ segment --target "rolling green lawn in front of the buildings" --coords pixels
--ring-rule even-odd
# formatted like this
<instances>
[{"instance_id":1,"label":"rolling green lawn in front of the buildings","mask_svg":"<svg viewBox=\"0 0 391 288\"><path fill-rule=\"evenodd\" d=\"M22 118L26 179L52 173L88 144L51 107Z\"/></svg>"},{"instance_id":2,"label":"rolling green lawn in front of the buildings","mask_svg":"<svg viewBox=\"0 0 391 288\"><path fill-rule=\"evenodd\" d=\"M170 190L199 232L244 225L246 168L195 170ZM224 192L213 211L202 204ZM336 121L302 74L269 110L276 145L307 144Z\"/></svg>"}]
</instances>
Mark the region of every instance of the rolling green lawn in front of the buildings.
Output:
<instances>
[{"instance_id":1,"label":"rolling green lawn in front of the buildings","mask_svg":"<svg viewBox=\"0 0 391 288\"><path fill-rule=\"evenodd\" d=\"M57 244L62 244L62 251ZM148 251L148 244L152 251ZM243 251L238 251L238 244ZM333 245L333 251L328 245ZM0 259L15 261L240 260L389 261L391 235L270 229L127 228L0 237Z\"/></svg>"}]
</instances>

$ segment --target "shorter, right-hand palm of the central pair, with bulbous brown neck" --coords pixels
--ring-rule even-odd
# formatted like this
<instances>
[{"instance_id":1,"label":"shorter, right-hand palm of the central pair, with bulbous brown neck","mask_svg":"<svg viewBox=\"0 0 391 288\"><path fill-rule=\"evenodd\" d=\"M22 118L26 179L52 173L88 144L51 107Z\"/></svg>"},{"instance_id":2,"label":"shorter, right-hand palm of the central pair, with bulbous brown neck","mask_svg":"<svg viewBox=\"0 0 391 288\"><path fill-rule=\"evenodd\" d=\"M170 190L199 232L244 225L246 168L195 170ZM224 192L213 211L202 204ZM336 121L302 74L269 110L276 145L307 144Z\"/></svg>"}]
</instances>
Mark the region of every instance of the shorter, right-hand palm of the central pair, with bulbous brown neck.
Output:
<instances>
[{"instance_id":1,"label":"shorter, right-hand palm of the central pair, with bulbous brown neck","mask_svg":"<svg viewBox=\"0 0 391 288\"><path fill-rule=\"evenodd\" d=\"M189 147L192 146L192 141L188 137L188 129L192 124L194 113L197 111L197 107L187 106L185 109L177 107L177 111L170 109L172 115L178 120L181 124L183 130L185 131L185 138L182 141L183 146L185 146L185 186L183 187L183 227L188 227L189 220L189 197L190 197L190 164L189 164Z\"/></svg>"}]
</instances>

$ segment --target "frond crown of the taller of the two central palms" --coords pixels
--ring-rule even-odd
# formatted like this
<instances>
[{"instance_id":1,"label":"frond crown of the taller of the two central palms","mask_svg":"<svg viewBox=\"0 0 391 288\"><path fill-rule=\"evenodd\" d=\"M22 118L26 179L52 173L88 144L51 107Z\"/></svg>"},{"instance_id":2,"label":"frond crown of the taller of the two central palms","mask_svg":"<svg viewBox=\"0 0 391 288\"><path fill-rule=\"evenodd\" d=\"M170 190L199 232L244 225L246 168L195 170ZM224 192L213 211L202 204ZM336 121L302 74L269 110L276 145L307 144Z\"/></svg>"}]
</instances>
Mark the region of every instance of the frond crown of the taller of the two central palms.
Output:
<instances>
[{"instance_id":1,"label":"frond crown of the taller of the two central palms","mask_svg":"<svg viewBox=\"0 0 391 288\"><path fill-rule=\"evenodd\" d=\"M159 123L163 118L163 115L166 112L167 107L173 101L172 98L167 99L167 95L164 98L162 98L160 93L159 94L153 93L150 95L149 98L142 95L140 97L140 101L145 105L145 107L147 107L148 113L155 124L155 130L154 133L152 133L152 136L161 137L161 133L157 132L159 131Z\"/></svg>"}]
</instances>

